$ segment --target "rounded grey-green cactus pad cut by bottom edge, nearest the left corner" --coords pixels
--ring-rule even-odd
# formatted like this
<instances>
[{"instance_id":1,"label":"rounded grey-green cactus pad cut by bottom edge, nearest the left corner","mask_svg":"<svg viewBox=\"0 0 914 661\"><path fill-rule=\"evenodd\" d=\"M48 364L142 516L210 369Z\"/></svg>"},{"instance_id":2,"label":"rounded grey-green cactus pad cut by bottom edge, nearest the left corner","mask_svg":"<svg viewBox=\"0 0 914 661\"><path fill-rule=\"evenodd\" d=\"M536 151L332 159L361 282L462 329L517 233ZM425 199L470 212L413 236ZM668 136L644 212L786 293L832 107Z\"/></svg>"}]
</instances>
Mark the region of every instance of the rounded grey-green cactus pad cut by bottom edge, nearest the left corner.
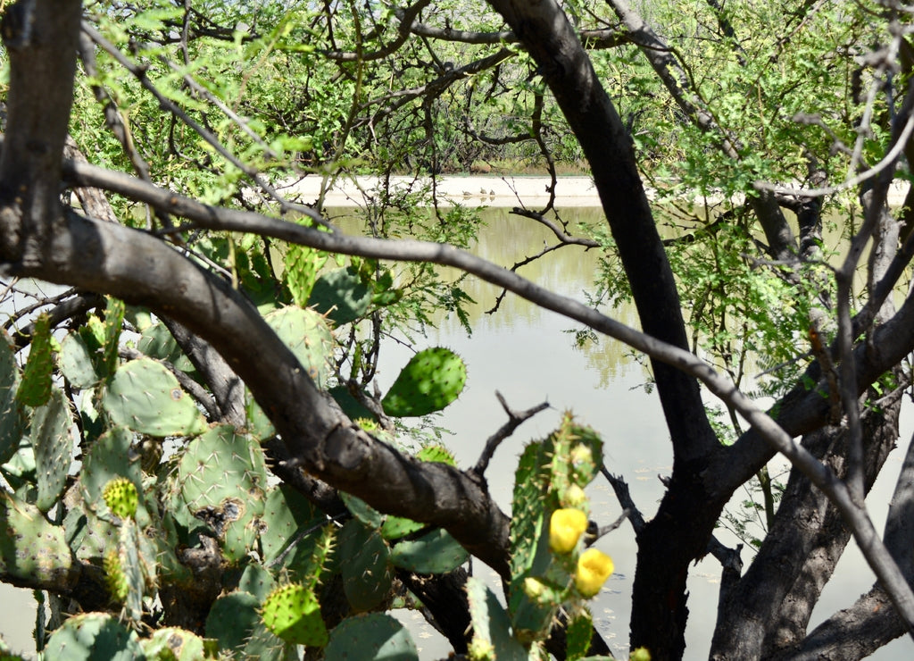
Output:
<instances>
[{"instance_id":1,"label":"rounded grey-green cactus pad cut by bottom edge, nearest the left corner","mask_svg":"<svg viewBox=\"0 0 914 661\"><path fill-rule=\"evenodd\" d=\"M138 661L145 658L136 634L108 613L84 613L51 634L45 658L68 661Z\"/></svg>"}]
</instances>

